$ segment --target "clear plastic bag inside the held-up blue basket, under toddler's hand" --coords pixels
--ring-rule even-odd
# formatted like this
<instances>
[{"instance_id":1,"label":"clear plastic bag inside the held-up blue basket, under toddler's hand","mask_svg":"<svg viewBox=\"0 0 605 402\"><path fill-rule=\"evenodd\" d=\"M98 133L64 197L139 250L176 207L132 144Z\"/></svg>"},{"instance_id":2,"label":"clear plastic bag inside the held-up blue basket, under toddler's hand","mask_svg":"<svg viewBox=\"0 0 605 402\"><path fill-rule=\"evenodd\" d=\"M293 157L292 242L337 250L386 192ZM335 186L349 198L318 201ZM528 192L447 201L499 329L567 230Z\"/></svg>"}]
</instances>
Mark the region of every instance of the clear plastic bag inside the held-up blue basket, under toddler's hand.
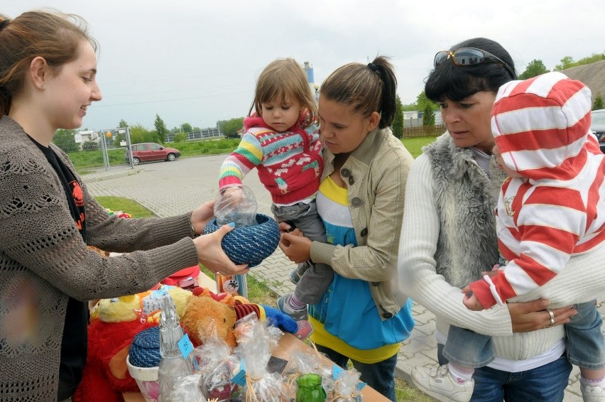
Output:
<instances>
[{"instance_id":1,"label":"clear plastic bag inside the held-up blue basket, under toddler's hand","mask_svg":"<svg viewBox=\"0 0 605 402\"><path fill-rule=\"evenodd\" d=\"M214 216L222 226L234 222L235 227L256 224L256 197L246 185L231 185L219 192L214 203Z\"/></svg>"}]
</instances>

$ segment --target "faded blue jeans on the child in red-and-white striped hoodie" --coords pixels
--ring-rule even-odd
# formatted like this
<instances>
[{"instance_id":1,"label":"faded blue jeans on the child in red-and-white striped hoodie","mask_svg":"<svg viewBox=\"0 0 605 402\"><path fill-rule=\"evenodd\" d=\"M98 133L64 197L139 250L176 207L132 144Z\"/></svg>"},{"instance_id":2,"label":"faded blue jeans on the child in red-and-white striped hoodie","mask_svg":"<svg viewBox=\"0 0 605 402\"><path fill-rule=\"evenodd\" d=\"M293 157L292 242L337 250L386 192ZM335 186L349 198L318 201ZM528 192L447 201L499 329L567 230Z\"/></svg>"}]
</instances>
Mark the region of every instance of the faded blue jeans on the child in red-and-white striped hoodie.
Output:
<instances>
[{"instance_id":1,"label":"faded blue jeans on the child in red-and-white striped hoodie","mask_svg":"<svg viewBox=\"0 0 605 402\"><path fill-rule=\"evenodd\" d=\"M567 359L571 364L587 369L605 366L605 341L601 313L596 300L574 305L577 315L565 324ZM454 325L449 327L443 356L462 367L486 366L494 360L494 346L489 335L481 335Z\"/></svg>"}]
</instances>

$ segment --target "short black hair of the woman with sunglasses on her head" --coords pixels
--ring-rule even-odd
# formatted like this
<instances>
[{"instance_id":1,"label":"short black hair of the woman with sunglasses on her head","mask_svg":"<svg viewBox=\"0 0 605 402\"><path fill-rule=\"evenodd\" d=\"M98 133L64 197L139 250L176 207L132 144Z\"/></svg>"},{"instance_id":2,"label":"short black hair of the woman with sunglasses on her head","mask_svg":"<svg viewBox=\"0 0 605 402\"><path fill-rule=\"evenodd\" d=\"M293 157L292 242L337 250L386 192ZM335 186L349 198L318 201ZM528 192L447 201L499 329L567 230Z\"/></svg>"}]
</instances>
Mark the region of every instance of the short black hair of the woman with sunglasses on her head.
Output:
<instances>
[{"instance_id":1,"label":"short black hair of the woman with sunglasses on her head","mask_svg":"<svg viewBox=\"0 0 605 402\"><path fill-rule=\"evenodd\" d=\"M515 70L511 55L500 43L486 38L472 38L453 45L449 50L459 48L477 48L497 56ZM472 66L457 66L449 60L430 72L425 82L425 94L433 102L440 102L444 97L459 101L479 91L498 92L498 88L513 79L502 65L481 63Z\"/></svg>"}]
</instances>

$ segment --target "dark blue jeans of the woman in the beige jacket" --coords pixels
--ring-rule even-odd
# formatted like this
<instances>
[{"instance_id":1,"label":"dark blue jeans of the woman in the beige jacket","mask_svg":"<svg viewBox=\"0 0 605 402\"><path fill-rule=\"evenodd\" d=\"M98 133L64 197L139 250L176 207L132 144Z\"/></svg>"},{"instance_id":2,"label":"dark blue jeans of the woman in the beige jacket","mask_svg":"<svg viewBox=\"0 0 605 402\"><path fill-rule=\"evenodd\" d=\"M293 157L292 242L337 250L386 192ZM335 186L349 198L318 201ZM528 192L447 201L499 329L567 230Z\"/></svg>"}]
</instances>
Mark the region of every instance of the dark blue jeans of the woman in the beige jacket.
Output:
<instances>
[{"instance_id":1,"label":"dark blue jeans of the woman in the beige jacket","mask_svg":"<svg viewBox=\"0 0 605 402\"><path fill-rule=\"evenodd\" d=\"M325 353L332 362L338 364L343 368L347 368L349 363L349 357L339 354L332 349L329 349L320 344L315 345L317 350ZM397 364L397 354L393 357L389 357L386 360L378 363L361 363L356 360L350 359L353 366L361 374L361 381L371 386L378 393L381 393L386 398L391 399L395 402L395 366Z\"/></svg>"}]
</instances>

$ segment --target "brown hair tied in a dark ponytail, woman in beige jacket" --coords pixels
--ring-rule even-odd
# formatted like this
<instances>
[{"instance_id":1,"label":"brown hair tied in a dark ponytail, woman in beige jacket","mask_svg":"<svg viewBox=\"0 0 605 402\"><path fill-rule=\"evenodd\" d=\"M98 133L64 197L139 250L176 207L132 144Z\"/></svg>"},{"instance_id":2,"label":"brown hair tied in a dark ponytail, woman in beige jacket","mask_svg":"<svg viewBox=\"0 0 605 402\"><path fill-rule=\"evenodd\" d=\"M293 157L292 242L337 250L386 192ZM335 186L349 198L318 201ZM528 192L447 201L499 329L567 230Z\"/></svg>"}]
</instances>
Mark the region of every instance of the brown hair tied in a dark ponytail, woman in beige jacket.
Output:
<instances>
[{"instance_id":1,"label":"brown hair tied in a dark ponytail, woman in beige jacket","mask_svg":"<svg viewBox=\"0 0 605 402\"><path fill-rule=\"evenodd\" d=\"M391 125L396 111L397 79L393 65L377 56L369 65L349 63L339 67L322 82L322 97L354 105L353 111L369 117L381 114L378 127Z\"/></svg>"}]
</instances>

